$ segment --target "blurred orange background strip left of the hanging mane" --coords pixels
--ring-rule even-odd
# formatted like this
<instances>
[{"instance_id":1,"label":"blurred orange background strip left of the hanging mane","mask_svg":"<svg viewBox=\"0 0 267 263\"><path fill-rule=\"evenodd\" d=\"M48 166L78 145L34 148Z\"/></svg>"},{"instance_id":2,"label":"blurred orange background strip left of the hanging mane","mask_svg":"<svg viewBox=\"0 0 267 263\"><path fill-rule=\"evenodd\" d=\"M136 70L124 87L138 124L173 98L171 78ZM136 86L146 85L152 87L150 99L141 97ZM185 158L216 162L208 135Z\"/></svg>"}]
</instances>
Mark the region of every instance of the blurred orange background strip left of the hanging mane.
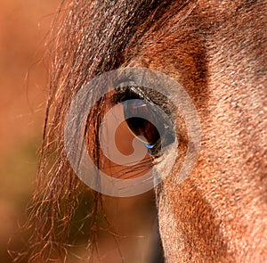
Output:
<instances>
[{"instance_id":1,"label":"blurred orange background strip left of the hanging mane","mask_svg":"<svg viewBox=\"0 0 267 263\"><path fill-rule=\"evenodd\" d=\"M32 191L42 136L45 35L58 0L0 0L0 261ZM28 77L27 77L28 76Z\"/></svg>"}]
</instances>

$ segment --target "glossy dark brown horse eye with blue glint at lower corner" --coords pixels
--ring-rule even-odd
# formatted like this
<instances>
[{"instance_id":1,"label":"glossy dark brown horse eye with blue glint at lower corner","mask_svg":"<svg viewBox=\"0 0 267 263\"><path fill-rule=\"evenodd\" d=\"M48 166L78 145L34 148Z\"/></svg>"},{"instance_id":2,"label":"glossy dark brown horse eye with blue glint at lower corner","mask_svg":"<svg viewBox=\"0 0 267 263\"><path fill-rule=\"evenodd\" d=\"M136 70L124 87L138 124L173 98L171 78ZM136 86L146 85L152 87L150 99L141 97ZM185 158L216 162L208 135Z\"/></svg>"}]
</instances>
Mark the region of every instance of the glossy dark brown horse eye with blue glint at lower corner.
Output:
<instances>
[{"instance_id":1,"label":"glossy dark brown horse eye with blue glint at lower corner","mask_svg":"<svg viewBox=\"0 0 267 263\"><path fill-rule=\"evenodd\" d=\"M129 129L134 136L145 138L142 140L142 137L138 137L148 148L150 154L158 155L163 143L170 144L174 141L167 136L168 123L164 119L166 113L163 114L158 107L153 107L151 103L140 99L127 100L123 104L125 121Z\"/></svg>"}]
</instances>

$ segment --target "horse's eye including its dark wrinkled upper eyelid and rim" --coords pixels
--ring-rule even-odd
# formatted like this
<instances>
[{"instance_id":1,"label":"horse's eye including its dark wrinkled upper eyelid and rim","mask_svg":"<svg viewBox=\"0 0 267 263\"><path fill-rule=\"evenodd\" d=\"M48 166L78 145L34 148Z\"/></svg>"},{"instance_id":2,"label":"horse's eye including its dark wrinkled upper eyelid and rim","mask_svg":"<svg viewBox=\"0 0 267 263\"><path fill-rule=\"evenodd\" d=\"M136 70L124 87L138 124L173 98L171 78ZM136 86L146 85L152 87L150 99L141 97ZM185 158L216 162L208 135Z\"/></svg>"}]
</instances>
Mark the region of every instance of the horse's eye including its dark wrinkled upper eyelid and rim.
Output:
<instances>
[{"instance_id":1,"label":"horse's eye including its dark wrinkled upper eyelid and rim","mask_svg":"<svg viewBox=\"0 0 267 263\"><path fill-rule=\"evenodd\" d=\"M136 86L128 86L120 93L118 100L123 103L128 128L145 144L150 155L159 157L162 148L174 142L174 124L170 116L171 111L166 106L166 98L160 99L154 94L158 105Z\"/></svg>"}]
</instances>

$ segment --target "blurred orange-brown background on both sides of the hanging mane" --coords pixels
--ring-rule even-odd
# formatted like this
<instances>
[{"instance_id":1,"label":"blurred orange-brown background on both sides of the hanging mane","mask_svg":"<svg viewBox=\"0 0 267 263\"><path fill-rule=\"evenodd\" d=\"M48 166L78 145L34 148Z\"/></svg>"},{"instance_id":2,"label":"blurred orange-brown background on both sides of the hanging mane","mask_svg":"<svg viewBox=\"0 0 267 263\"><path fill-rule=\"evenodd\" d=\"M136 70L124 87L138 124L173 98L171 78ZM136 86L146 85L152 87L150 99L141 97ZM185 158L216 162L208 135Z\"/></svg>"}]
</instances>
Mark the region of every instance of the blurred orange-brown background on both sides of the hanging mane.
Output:
<instances>
[{"instance_id":1,"label":"blurred orange-brown background on both sides of the hanging mane","mask_svg":"<svg viewBox=\"0 0 267 263\"><path fill-rule=\"evenodd\" d=\"M0 0L1 263L12 262L7 243L25 217L34 187L47 96L44 42L59 3ZM125 235L120 240L125 262L142 262L155 221L153 195L119 201L106 198L106 204L112 224ZM117 244L109 241L110 236L100 240L101 262L121 262Z\"/></svg>"}]
</instances>

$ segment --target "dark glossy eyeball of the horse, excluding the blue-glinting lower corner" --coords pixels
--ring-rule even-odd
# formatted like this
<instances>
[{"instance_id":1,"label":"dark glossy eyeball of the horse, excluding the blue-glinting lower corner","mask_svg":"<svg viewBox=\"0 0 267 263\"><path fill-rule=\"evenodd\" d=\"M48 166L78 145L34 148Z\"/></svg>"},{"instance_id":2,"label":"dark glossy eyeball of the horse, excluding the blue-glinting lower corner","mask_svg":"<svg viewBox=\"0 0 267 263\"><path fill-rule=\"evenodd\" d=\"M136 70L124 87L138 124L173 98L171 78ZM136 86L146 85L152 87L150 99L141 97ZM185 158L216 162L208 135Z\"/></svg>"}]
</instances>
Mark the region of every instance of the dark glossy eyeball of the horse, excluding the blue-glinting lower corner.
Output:
<instances>
[{"instance_id":1,"label":"dark glossy eyeball of the horse, excluding the blue-glinting lower corner","mask_svg":"<svg viewBox=\"0 0 267 263\"><path fill-rule=\"evenodd\" d=\"M135 136L145 137L147 140L146 144L156 144L160 139L159 133L164 130L163 119L157 113L149 103L145 103L142 100L128 100L124 102L124 114L128 127ZM132 117L133 115L136 117Z\"/></svg>"}]
</instances>

